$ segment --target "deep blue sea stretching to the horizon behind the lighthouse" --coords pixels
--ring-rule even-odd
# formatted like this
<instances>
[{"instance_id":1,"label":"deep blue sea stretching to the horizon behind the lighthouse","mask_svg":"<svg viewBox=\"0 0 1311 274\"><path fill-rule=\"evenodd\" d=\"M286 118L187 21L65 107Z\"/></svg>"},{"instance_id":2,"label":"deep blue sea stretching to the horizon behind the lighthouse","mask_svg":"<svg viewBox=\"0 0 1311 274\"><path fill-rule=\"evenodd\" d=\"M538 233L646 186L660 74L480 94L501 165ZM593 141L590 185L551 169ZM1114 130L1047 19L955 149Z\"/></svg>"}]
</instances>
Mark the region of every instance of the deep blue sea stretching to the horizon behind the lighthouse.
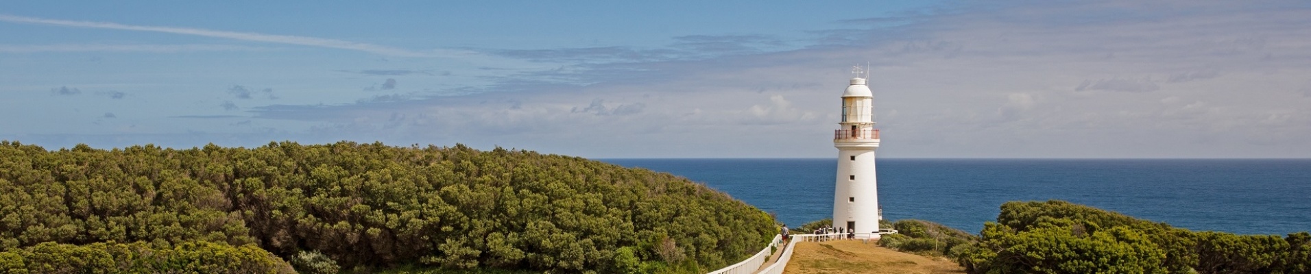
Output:
<instances>
[{"instance_id":1,"label":"deep blue sea stretching to the horizon behind the lighthouse","mask_svg":"<svg viewBox=\"0 0 1311 274\"><path fill-rule=\"evenodd\" d=\"M830 218L835 159L603 159L687 177L789 227ZM1007 201L1063 199L1193 231L1311 231L1311 160L880 159L889 220L977 233Z\"/></svg>"}]
</instances>

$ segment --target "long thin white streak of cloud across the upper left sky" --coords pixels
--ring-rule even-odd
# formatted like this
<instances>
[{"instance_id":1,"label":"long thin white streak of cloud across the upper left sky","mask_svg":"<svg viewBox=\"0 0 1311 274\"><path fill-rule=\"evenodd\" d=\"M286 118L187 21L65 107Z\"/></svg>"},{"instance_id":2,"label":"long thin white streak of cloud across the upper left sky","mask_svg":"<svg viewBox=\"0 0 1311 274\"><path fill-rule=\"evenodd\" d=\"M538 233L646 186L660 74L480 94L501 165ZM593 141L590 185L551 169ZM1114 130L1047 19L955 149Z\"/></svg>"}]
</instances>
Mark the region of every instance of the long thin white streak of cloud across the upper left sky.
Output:
<instances>
[{"instance_id":1,"label":"long thin white streak of cloud across the upper left sky","mask_svg":"<svg viewBox=\"0 0 1311 274\"><path fill-rule=\"evenodd\" d=\"M313 46L313 47L328 47L328 49L342 49L342 50L355 50L371 54L389 55L389 56L455 56L455 55L468 55L468 51L454 51L454 50L433 50L433 51L412 51L388 46L379 46L371 43L340 41L340 39L326 39L315 37L296 37L296 35L277 35L277 34L261 34L261 33L239 33L239 31L223 31L223 30L207 30L207 29L190 29L190 28L172 28L172 26L139 26L139 25L123 25L115 22L89 22L89 21L67 21L67 20L47 20L35 17L22 17L22 16L9 16L0 14L0 21L5 22L22 22L22 24L41 24L41 25L55 25L55 26L71 26L71 28L93 28L93 29L117 29L117 30L136 30L136 31L153 31L153 33L172 33L184 35L198 35L198 37L215 37L239 41L253 41L253 42L269 42L269 43L286 43L286 45L300 45L300 46Z\"/></svg>"}]
</instances>

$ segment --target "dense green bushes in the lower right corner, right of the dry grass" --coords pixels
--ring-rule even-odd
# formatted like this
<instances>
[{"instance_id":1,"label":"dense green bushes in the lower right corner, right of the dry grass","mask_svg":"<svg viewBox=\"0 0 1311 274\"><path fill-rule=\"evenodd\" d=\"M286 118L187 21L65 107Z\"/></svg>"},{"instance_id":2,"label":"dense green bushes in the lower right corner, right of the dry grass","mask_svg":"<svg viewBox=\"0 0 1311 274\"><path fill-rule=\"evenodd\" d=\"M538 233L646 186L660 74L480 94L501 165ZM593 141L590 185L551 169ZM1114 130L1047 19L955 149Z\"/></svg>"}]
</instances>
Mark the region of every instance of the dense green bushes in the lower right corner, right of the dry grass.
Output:
<instances>
[{"instance_id":1,"label":"dense green bushes in the lower right corner, right of the dry grass","mask_svg":"<svg viewBox=\"0 0 1311 274\"><path fill-rule=\"evenodd\" d=\"M956 252L969 273L1311 273L1311 233L1192 232L1062 201L1007 202Z\"/></svg>"}]
</instances>

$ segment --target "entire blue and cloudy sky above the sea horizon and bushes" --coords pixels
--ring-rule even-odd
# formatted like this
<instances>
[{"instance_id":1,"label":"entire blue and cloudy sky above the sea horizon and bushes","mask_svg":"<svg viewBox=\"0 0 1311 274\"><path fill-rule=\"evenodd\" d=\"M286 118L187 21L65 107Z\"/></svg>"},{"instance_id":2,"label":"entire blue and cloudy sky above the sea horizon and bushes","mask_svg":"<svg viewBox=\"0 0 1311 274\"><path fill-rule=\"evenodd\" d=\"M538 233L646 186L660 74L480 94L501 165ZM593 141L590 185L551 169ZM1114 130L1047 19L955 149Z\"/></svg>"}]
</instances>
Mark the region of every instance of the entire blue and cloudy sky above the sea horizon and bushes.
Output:
<instances>
[{"instance_id":1,"label":"entire blue and cloudy sky above the sea horizon and bushes","mask_svg":"<svg viewBox=\"0 0 1311 274\"><path fill-rule=\"evenodd\" d=\"M0 140L1311 157L1308 1L0 1Z\"/></svg>"}]
</instances>

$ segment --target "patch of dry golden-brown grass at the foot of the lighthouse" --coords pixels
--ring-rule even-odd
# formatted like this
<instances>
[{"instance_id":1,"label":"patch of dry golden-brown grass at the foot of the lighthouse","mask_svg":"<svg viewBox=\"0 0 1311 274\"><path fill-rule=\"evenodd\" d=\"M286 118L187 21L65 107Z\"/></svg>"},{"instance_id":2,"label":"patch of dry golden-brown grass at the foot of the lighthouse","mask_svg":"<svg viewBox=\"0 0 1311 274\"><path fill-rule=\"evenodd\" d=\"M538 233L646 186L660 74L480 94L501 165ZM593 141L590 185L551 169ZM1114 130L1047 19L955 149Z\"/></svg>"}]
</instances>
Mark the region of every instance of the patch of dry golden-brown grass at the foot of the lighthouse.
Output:
<instances>
[{"instance_id":1,"label":"patch of dry golden-brown grass at the foot of the lighthouse","mask_svg":"<svg viewBox=\"0 0 1311 274\"><path fill-rule=\"evenodd\" d=\"M901 253L881 248L874 243L861 244L859 240L838 240L797 243L792 261L788 262L788 267L783 273L954 274L965 273L965 270L947 258Z\"/></svg>"}]
</instances>

